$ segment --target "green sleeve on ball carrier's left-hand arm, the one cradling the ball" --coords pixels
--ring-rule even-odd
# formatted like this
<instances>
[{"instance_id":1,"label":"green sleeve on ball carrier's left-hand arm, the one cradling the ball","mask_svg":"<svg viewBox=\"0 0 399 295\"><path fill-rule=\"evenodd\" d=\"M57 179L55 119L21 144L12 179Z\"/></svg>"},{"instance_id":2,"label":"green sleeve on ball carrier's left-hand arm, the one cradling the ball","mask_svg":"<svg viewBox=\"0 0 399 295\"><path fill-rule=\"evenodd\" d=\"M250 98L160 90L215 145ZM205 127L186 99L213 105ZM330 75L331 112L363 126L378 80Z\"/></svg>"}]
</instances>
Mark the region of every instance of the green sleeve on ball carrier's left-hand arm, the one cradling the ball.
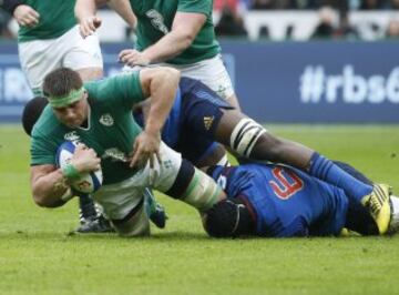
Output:
<instances>
[{"instance_id":1,"label":"green sleeve on ball carrier's left-hand arm, the one cradling the ball","mask_svg":"<svg viewBox=\"0 0 399 295\"><path fill-rule=\"evenodd\" d=\"M37 129L33 129L31 139L31 166L55 165L55 151L57 145L48 141Z\"/></svg>"}]
</instances>

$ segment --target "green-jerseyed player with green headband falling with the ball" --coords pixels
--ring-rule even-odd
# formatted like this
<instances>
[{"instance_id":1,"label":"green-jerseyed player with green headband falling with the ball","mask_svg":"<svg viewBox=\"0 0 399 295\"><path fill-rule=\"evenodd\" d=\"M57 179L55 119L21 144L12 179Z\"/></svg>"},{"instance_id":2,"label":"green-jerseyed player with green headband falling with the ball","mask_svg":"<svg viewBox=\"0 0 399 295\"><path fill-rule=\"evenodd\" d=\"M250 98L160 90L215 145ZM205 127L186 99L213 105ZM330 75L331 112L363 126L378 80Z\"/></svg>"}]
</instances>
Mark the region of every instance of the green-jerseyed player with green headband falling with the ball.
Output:
<instances>
[{"instance_id":1,"label":"green-jerseyed player with green headband falling with the ball","mask_svg":"<svg viewBox=\"0 0 399 295\"><path fill-rule=\"evenodd\" d=\"M63 205L69 183L80 173L102 167L104 182L93 194L121 235L150 233L143 208L146 186L193 205L200 212L224 196L205 173L161 142L160 131L173 104L180 80L171 68L144 69L82 84L70 69L51 72L43 90L49 105L33 128L31 187L40 206ZM145 129L132 108L151 96ZM80 142L68 169L55 166L65 140Z\"/></svg>"}]
</instances>

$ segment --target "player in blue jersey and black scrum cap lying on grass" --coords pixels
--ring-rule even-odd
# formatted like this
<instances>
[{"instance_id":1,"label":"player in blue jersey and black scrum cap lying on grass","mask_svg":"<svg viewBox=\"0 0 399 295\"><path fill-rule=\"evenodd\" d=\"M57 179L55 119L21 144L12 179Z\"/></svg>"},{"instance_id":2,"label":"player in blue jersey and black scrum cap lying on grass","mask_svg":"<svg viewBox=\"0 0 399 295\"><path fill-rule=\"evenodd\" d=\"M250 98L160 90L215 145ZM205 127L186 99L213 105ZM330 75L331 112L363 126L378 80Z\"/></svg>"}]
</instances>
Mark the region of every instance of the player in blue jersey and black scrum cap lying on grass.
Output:
<instances>
[{"instance_id":1,"label":"player in blue jersey and black scrum cap lying on grass","mask_svg":"<svg viewBox=\"0 0 399 295\"><path fill-rule=\"evenodd\" d=\"M338 163L364 183L351 166ZM208 174L228 199L211 208L204 227L214 237L339 235L344 227L362 235L379 234L370 214L344 190L293 167L275 164L212 166ZM389 233L398 231L399 199L390 196Z\"/></svg>"}]
</instances>

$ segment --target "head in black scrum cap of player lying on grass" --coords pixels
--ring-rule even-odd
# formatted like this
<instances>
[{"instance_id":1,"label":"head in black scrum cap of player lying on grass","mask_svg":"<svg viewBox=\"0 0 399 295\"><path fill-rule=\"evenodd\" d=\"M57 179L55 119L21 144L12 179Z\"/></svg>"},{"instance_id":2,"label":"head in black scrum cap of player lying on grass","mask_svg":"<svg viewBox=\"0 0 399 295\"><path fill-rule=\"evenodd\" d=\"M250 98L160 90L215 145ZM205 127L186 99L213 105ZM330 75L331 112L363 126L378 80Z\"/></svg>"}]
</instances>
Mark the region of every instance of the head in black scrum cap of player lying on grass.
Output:
<instances>
[{"instance_id":1,"label":"head in black scrum cap of player lying on grass","mask_svg":"<svg viewBox=\"0 0 399 295\"><path fill-rule=\"evenodd\" d=\"M241 199L225 199L206 212L205 230L214 237L237 237L254 233L255 222Z\"/></svg>"}]
</instances>

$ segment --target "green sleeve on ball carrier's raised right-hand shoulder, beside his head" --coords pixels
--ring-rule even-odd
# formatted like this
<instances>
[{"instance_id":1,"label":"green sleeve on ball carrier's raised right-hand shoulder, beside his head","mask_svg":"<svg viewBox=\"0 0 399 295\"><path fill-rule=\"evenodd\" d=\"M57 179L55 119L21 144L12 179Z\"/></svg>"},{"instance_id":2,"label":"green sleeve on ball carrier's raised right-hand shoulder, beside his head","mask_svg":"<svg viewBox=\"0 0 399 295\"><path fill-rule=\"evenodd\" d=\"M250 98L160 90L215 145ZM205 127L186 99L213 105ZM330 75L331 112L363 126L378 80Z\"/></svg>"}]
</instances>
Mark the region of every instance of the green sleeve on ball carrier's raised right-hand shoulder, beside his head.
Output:
<instances>
[{"instance_id":1,"label":"green sleeve on ball carrier's raised right-hand shoulder, beside his head","mask_svg":"<svg viewBox=\"0 0 399 295\"><path fill-rule=\"evenodd\" d=\"M129 111L135 103L145 99L140 82L140 71L89 82L84 87L90 96L108 101L113 105L121 105Z\"/></svg>"}]
</instances>

